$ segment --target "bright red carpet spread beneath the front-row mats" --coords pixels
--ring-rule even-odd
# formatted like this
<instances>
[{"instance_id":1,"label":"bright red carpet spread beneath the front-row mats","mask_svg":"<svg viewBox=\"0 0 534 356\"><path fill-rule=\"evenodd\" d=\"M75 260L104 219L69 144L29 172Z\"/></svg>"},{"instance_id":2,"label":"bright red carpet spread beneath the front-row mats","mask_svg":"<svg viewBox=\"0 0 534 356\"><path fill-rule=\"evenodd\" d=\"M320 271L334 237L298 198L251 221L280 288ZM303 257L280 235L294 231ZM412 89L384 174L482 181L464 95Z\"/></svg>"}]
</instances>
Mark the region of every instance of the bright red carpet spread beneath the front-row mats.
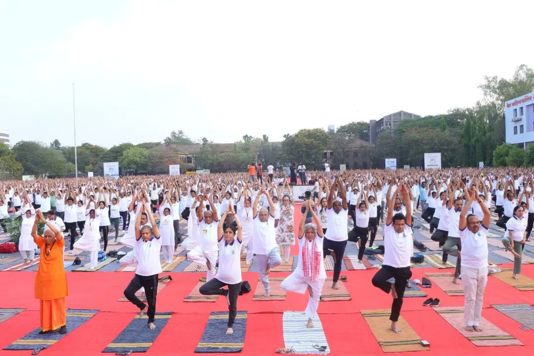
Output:
<instances>
[{"instance_id":1,"label":"bright red carpet spread beneath the front-row mats","mask_svg":"<svg viewBox=\"0 0 534 356\"><path fill-rule=\"evenodd\" d=\"M413 279L421 279L426 271L436 268L413 269ZM367 327L360 310L387 308L391 297L374 288L371 278L376 270L344 271L348 276L345 286L352 299L337 302L321 302L319 313L321 322L332 349L333 355L382 354L382 350ZM523 266L523 273L534 278L534 266ZM285 276L289 273L273 273ZM159 311L173 311L176 314L162 330L148 354L192 354L197 345L211 311L227 310L224 298L215 303L184 303L182 300L191 291L203 273L172 273L173 280L158 296ZM15 317L0 323L0 347L5 347L15 339L26 335L38 327L38 301L33 296L33 272L2 272L4 308L27 308ZM75 330L43 355L95 355L111 342L130 322L135 306L117 302L122 291L131 279L132 273L98 272L67 273L70 296L69 308L99 309L89 322ZM332 276L332 272L328 272ZM244 273L255 290L257 273ZM425 289L430 297L441 299L442 306L463 305L463 297L447 296L439 287ZM288 293L285 301L253 302L252 292L240 296L238 310L248 311L247 334L243 353L251 355L273 354L277 347L284 345L282 339L282 312L303 310L307 297ZM428 354L477 354L514 355L532 354L534 351L534 331L524 331L519 324L506 315L494 310L490 304L528 303L534 300L534 291L521 292L497 278L491 277L484 296L482 314L499 328L519 339L525 347L476 347L454 330L443 318L429 307L421 305L425 298L406 298L402 315L414 330L430 342ZM0 351L0 355L26 354L23 351ZM427 354L427 353L425 353Z\"/></svg>"}]
</instances>

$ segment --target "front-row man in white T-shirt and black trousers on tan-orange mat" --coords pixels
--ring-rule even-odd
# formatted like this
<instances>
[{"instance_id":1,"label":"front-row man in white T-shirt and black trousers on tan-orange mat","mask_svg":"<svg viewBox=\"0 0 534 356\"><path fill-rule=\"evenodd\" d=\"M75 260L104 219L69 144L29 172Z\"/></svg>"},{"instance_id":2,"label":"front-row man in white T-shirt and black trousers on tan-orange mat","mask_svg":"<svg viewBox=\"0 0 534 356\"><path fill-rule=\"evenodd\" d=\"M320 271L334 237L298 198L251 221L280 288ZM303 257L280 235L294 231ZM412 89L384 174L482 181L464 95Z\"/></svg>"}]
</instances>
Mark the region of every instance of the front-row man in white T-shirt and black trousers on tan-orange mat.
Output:
<instances>
[{"instance_id":1,"label":"front-row man in white T-shirt and black trousers on tan-orange mat","mask_svg":"<svg viewBox=\"0 0 534 356\"><path fill-rule=\"evenodd\" d=\"M406 205L406 216L403 213L393 215L393 205L398 194L402 194L404 205ZM391 291L393 303L391 304L391 330L400 333L397 328L397 321L402 307L404 290L407 281L412 276L410 271L411 257L413 256L412 238L412 204L410 195L404 183L399 184L393 199L389 199L388 216L384 227L384 262L380 271L373 277L373 286L388 293ZM395 282L388 282L395 278Z\"/></svg>"}]
</instances>

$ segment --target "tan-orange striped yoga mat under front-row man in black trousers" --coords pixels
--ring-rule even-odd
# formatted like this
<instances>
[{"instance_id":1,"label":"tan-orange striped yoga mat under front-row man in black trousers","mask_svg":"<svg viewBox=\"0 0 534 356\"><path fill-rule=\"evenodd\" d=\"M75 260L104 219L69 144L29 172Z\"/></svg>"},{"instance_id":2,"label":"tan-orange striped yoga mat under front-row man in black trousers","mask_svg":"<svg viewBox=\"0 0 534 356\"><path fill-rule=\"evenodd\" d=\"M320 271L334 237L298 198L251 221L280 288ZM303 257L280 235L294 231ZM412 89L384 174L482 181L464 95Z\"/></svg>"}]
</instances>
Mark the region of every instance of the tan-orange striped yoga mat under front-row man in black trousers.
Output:
<instances>
[{"instance_id":1,"label":"tan-orange striped yoga mat under front-row man in black trousers","mask_svg":"<svg viewBox=\"0 0 534 356\"><path fill-rule=\"evenodd\" d=\"M402 316L399 316L397 321L397 327L402 332L394 333L391 331L389 328L391 325L390 313L391 311L388 309L362 310L362 316L383 352L430 350L429 347L421 345L421 338Z\"/></svg>"}]
</instances>

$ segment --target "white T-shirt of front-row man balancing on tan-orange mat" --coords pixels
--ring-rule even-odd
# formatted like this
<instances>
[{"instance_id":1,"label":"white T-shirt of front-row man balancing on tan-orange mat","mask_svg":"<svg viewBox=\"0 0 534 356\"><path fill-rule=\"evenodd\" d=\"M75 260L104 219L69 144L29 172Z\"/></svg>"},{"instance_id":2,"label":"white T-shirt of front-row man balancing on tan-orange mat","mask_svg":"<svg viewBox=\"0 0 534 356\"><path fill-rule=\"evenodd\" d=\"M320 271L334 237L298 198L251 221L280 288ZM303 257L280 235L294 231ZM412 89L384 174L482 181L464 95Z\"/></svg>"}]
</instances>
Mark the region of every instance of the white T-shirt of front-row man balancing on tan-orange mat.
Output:
<instances>
[{"instance_id":1,"label":"white T-shirt of front-row man balancing on tan-orange mat","mask_svg":"<svg viewBox=\"0 0 534 356\"><path fill-rule=\"evenodd\" d=\"M413 256L412 234L412 228L407 224L401 233L395 231L392 222L384 227L385 253L383 265L396 268L411 266L410 258Z\"/></svg>"}]
</instances>

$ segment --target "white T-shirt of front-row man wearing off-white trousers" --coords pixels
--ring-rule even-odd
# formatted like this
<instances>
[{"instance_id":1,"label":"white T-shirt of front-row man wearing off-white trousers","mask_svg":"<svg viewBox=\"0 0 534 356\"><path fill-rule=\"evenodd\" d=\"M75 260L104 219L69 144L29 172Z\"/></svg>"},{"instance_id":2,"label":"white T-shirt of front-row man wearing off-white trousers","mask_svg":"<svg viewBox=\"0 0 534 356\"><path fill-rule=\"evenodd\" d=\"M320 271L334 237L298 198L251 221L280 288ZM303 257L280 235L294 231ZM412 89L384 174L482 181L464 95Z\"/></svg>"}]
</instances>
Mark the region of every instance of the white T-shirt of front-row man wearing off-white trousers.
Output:
<instances>
[{"instance_id":1,"label":"white T-shirt of front-row man wearing off-white trousers","mask_svg":"<svg viewBox=\"0 0 534 356\"><path fill-rule=\"evenodd\" d=\"M488 266L488 228L480 224L476 234L466 227L460 230L462 242L462 267L481 268Z\"/></svg>"}]
</instances>

